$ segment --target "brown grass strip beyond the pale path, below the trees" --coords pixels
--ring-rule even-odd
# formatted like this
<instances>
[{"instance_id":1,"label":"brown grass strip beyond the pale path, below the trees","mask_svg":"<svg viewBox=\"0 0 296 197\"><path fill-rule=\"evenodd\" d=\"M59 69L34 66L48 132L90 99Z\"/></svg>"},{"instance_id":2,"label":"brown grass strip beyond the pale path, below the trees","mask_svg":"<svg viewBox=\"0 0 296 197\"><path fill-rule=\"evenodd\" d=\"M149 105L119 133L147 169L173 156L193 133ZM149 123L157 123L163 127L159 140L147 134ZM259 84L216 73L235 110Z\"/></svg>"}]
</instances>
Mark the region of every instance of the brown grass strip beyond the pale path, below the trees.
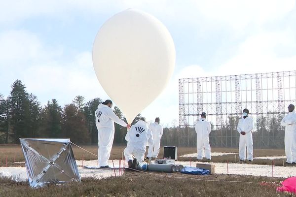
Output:
<instances>
[{"instance_id":1,"label":"brown grass strip beyond the pale path, below the trees","mask_svg":"<svg viewBox=\"0 0 296 197\"><path fill-rule=\"evenodd\" d=\"M84 150L77 148L76 146L72 145L73 152L76 160L96 160L97 157L85 152ZM82 148L94 153L97 155L98 147L96 145L92 146L82 146ZM120 159L122 157L122 153L125 146L113 146L111 151L110 159ZM222 162L226 163L235 163L238 162L238 149L233 148L212 148L212 152L225 152L225 153L236 153L236 161L235 155L223 155L223 156L215 156L212 157L212 162ZM179 156L185 154L196 153L195 147L178 147L178 154ZM160 148L159 156L163 155L163 148ZM266 150L266 149L255 149L254 150L254 157L261 157L261 156L283 156L285 155L284 150ZM12 165L14 162L23 162L24 157L21 150L20 145L0 145L0 166L6 166L6 157L7 157L7 166ZM196 161L196 157L193 158L184 158L179 157L180 161ZM285 165L286 160L284 160ZM272 160L263 160L263 159L254 159L253 164L267 164L271 165ZM274 160L275 165L283 165L282 159ZM24 166L24 164L13 164L13 166Z\"/></svg>"}]
</instances>

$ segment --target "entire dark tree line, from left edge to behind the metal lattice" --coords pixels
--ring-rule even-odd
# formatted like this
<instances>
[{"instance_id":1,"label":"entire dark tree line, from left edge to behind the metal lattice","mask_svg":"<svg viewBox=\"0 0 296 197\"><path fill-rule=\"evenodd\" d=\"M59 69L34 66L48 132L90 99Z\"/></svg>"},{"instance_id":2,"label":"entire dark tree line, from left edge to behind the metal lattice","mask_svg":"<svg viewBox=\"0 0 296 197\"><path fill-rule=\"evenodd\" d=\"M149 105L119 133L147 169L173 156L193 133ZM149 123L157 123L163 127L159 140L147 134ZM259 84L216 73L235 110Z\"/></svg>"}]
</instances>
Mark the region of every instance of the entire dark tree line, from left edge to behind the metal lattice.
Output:
<instances>
[{"instance_id":1,"label":"entire dark tree line, from left edge to behind the metal lattice","mask_svg":"<svg viewBox=\"0 0 296 197\"><path fill-rule=\"evenodd\" d=\"M28 93L21 80L11 85L7 98L0 94L0 143L19 143L19 138L70 138L74 143L95 144L98 131L94 112L102 99L85 101L76 96L72 103L63 107L56 99L41 106L37 97ZM114 106L114 113L126 122L122 112ZM141 118L139 114L132 124ZM210 144L212 147L238 147L237 124L240 117L228 116L222 128L212 125ZM283 148L284 128L280 126L283 117L271 113L257 118L257 131L253 132L255 148ZM114 144L125 145L127 130L115 124ZM164 128L162 146L196 146L194 128Z\"/></svg>"}]
</instances>

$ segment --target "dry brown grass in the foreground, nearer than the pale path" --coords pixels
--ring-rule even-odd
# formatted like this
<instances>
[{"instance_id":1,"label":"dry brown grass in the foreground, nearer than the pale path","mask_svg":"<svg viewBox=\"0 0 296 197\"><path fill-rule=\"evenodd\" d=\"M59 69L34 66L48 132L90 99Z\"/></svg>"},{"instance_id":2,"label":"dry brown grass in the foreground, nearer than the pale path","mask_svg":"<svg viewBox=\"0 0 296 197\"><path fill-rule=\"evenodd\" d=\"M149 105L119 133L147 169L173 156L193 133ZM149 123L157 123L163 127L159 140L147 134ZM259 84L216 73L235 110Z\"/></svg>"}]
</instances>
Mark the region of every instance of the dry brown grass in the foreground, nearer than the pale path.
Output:
<instances>
[{"instance_id":1,"label":"dry brown grass in the foreground, nearer than the pale path","mask_svg":"<svg viewBox=\"0 0 296 197\"><path fill-rule=\"evenodd\" d=\"M254 182L208 182L192 179L167 178L141 172L126 172L121 177L96 180L82 179L81 183L64 186L48 185L31 189L28 183L15 183L0 179L0 196L6 197L288 197L277 193L274 187L261 186L262 181L282 181L282 178L267 178L236 175L186 175L181 173L168 176L199 178L206 180L236 180Z\"/></svg>"}]
</instances>

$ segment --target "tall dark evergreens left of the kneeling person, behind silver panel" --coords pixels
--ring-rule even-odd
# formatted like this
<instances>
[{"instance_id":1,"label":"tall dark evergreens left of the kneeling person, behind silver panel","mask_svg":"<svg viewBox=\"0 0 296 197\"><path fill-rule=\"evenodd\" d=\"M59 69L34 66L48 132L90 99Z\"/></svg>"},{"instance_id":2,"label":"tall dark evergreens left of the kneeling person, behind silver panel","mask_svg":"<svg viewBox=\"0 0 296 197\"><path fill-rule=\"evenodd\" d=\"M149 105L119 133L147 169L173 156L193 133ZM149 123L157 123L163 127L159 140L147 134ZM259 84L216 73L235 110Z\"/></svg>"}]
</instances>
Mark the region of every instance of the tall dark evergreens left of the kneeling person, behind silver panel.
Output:
<instances>
[{"instance_id":1,"label":"tall dark evergreens left of the kneeling person, behind silver panel","mask_svg":"<svg viewBox=\"0 0 296 197\"><path fill-rule=\"evenodd\" d=\"M63 107L56 99L42 107L22 81L16 80L7 98L0 94L0 143L19 143L19 138L71 138L74 143L97 143L94 112L100 103L100 98L85 102L83 96L76 96ZM114 112L125 120L117 106ZM114 143L124 143L126 128L115 124L115 130Z\"/></svg>"}]
</instances>

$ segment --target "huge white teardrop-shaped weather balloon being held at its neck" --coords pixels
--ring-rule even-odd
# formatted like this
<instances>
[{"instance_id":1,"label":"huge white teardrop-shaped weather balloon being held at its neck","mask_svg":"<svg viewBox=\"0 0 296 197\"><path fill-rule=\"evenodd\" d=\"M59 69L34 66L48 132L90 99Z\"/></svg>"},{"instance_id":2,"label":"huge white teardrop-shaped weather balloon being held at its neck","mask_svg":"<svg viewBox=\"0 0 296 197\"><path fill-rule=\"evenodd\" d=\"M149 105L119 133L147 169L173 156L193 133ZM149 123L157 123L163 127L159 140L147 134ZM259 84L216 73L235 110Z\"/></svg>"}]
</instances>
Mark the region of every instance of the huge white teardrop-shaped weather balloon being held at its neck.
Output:
<instances>
[{"instance_id":1,"label":"huge white teardrop-shaped weather balloon being held at its neck","mask_svg":"<svg viewBox=\"0 0 296 197\"><path fill-rule=\"evenodd\" d=\"M119 12L106 21L93 46L98 80L129 123L166 87L175 56L166 27L135 9Z\"/></svg>"}]
</instances>

